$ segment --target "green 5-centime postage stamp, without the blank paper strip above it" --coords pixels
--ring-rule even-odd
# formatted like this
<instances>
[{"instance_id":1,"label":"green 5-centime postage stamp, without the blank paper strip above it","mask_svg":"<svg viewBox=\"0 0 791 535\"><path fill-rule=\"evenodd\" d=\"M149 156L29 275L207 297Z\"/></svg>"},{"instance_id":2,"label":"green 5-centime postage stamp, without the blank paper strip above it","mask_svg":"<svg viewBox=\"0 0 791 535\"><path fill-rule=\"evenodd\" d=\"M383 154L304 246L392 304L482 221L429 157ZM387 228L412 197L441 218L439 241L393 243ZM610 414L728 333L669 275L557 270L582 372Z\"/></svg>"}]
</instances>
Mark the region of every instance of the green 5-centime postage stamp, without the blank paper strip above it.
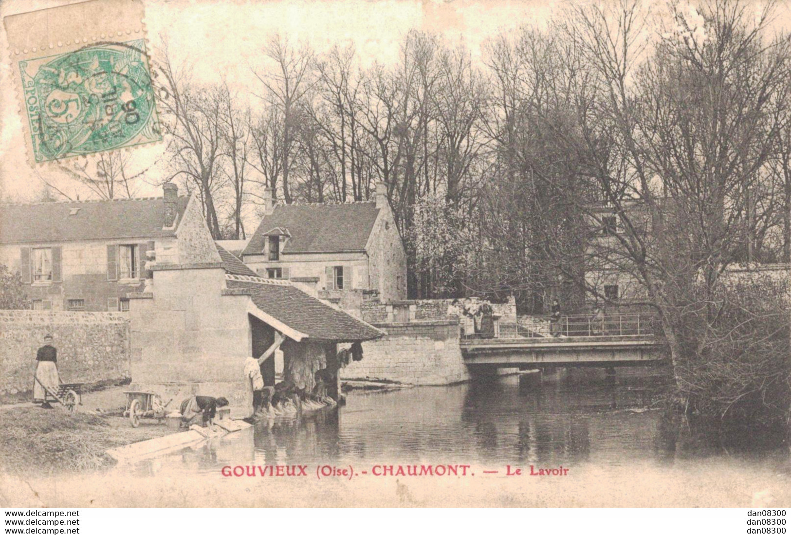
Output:
<instances>
[{"instance_id":1,"label":"green 5-centime postage stamp, without the blank paper strip above it","mask_svg":"<svg viewBox=\"0 0 791 535\"><path fill-rule=\"evenodd\" d=\"M36 162L162 138L143 39L19 61Z\"/></svg>"}]
</instances>

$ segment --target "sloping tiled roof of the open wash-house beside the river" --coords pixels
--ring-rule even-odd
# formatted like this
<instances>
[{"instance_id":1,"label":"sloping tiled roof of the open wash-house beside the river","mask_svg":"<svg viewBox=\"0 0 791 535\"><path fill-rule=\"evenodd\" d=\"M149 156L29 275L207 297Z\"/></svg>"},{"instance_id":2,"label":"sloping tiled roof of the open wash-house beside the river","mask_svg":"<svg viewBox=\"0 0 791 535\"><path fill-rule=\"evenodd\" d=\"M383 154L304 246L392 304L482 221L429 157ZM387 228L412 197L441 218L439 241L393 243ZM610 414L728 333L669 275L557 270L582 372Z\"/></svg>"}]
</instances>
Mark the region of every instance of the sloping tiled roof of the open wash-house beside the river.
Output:
<instances>
[{"instance_id":1,"label":"sloping tiled roof of the open wash-house beside the river","mask_svg":"<svg viewBox=\"0 0 791 535\"><path fill-rule=\"evenodd\" d=\"M286 281L226 275L225 284L230 290L249 290L252 302L263 313L305 333L314 340L330 342L355 342L373 340L382 332L343 310L305 294Z\"/></svg>"}]
</instances>

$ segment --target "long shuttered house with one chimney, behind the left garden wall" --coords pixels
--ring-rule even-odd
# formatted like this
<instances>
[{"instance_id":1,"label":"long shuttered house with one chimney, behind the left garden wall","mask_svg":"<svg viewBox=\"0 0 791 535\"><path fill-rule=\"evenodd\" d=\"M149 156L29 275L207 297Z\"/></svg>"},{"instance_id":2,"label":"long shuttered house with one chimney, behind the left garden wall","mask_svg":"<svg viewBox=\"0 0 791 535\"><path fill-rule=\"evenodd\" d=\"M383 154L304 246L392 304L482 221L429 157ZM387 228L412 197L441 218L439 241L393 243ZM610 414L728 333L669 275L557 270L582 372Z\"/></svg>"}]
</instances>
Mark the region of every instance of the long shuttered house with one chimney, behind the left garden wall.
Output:
<instances>
[{"instance_id":1,"label":"long shuttered house with one chimney, behind the left garden wall","mask_svg":"<svg viewBox=\"0 0 791 535\"><path fill-rule=\"evenodd\" d=\"M161 198L0 206L0 264L18 272L32 309L126 311L146 257L217 260L198 199L165 184Z\"/></svg>"}]
</instances>

